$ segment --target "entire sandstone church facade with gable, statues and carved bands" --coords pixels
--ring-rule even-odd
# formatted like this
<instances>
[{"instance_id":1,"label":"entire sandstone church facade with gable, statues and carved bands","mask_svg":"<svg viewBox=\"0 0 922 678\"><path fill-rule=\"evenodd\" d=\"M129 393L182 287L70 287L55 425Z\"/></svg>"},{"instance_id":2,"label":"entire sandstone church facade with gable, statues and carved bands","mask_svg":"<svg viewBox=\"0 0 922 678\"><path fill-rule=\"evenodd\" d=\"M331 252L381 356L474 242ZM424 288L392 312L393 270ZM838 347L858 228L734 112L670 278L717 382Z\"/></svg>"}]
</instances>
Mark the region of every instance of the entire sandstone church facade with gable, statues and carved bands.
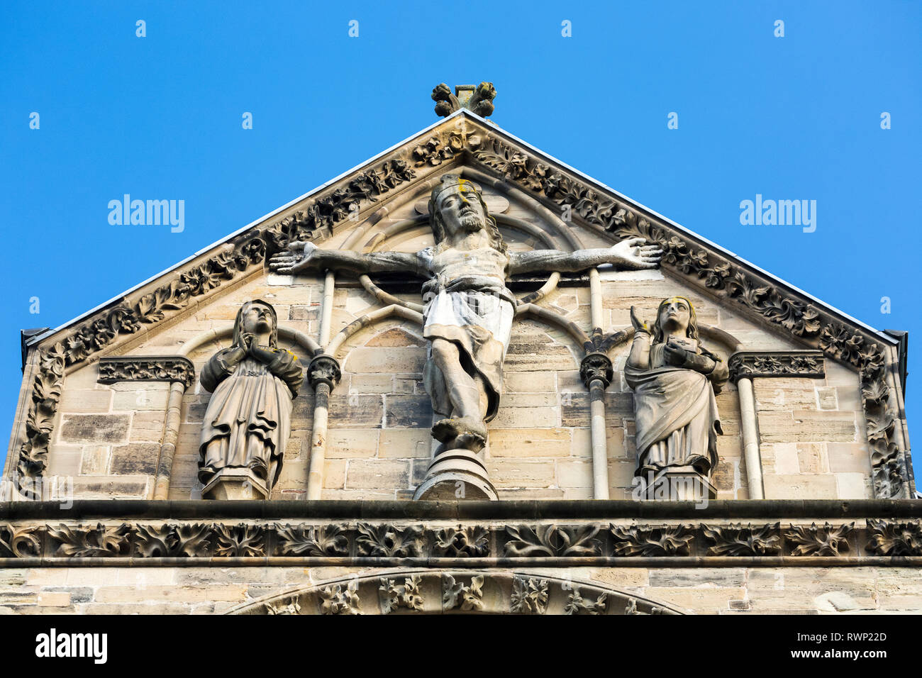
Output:
<instances>
[{"instance_id":1,"label":"entire sandstone church facade with gable, statues and carved bands","mask_svg":"<svg viewBox=\"0 0 922 678\"><path fill-rule=\"evenodd\" d=\"M443 120L23 332L12 613L922 610L906 337Z\"/></svg>"}]
</instances>

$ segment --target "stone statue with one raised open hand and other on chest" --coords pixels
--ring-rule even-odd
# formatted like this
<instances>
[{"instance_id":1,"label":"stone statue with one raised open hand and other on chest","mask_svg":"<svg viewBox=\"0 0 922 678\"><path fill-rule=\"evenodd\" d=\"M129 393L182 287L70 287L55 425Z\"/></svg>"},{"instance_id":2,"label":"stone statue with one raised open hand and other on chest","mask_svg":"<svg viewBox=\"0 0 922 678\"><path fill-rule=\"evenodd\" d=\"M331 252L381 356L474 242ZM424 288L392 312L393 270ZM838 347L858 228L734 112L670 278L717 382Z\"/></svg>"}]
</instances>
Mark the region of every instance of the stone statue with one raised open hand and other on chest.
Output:
<instances>
[{"instance_id":1,"label":"stone statue with one raised open hand and other on chest","mask_svg":"<svg viewBox=\"0 0 922 678\"><path fill-rule=\"evenodd\" d=\"M635 475L647 479L668 467L691 467L707 479L717 464L717 434L723 434L715 392L727 383L727 363L703 348L685 297L659 304L652 332L633 307L631 323L624 376L634 392Z\"/></svg>"}]
</instances>

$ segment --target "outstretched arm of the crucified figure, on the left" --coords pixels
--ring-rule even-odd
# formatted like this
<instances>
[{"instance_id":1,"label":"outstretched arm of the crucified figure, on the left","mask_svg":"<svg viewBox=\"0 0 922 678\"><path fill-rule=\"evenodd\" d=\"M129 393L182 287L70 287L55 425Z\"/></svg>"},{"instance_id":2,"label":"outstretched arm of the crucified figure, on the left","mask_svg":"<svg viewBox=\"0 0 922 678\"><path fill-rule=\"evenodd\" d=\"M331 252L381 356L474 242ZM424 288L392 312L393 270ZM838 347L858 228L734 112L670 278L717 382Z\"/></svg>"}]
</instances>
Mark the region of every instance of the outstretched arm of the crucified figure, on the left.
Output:
<instances>
[{"instance_id":1,"label":"outstretched arm of the crucified figure, on the left","mask_svg":"<svg viewBox=\"0 0 922 678\"><path fill-rule=\"evenodd\" d=\"M269 259L269 268L276 273L296 275L309 269L344 270L349 273L416 273L428 277L420 257L411 252L371 252L361 254L349 250L325 250L313 243L295 241L288 251Z\"/></svg>"}]
</instances>

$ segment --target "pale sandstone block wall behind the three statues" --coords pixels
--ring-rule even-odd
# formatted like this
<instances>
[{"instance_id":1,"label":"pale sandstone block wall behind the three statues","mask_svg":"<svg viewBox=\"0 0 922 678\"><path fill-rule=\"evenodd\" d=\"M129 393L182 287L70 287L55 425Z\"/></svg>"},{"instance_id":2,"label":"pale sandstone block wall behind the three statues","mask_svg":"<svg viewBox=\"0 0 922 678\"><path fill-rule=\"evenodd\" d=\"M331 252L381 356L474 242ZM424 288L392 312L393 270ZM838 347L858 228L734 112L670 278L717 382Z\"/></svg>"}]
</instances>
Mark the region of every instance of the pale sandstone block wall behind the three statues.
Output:
<instances>
[{"instance_id":1,"label":"pale sandstone block wall behind the three statues","mask_svg":"<svg viewBox=\"0 0 922 678\"><path fill-rule=\"evenodd\" d=\"M410 215L396 210L392 221ZM535 218L513 206L509 214ZM324 246L337 247L347 232ZM544 246L503 230L510 247ZM607 246L581 232L584 246ZM431 244L428 227L397 238L388 246L413 251ZM651 321L658 303L669 296L691 299L700 323L719 328L747 350L801 348L776 330L756 325L732 305L718 305L698 291L665 277L659 270L602 270L603 327L630 327L631 306ZM256 271L196 301L183 314L119 347L120 354L170 355L189 339L213 328L229 327L241 303L260 298L272 303L279 324L316 337L323 284L320 277L290 277ZM419 302L418 294L398 296ZM376 308L378 303L355 280L337 278L333 334ZM585 332L591 330L587 282L561 285L541 305L552 308ZM426 342L420 327L384 320L351 337L337 352L343 378L334 390L329 417L326 499L409 498L431 456L428 428L431 406L422 387ZM725 359L733 347L703 337ZM284 348L307 364L306 351L290 341ZM196 374L230 339L212 341L189 357ZM616 378L606 393L609 493L632 498L636 465L632 393L622 370L628 344L610 351ZM501 499L586 499L592 497L588 393L579 377L582 348L556 327L517 319L505 362L505 393L491 422L485 461ZM766 498L870 497L869 453L861 410L858 376L842 364L826 361L825 379L756 379L764 493ZM158 382L97 383L94 363L65 379L49 455L49 475L72 477L78 497L143 498L152 491L163 438L169 385ZM200 497L196 479L199 430L210 394L197 379L183 398L182 423L173 459L171 499ZM727 384L717 397L724 435L718 438L720 464L713 475L719 499L749 498L742 458L739 398ZM305 494L308 446L313 425L313 391L305 382L294 403L291 436L273 498Z\"/></svg>"}]
</instances>

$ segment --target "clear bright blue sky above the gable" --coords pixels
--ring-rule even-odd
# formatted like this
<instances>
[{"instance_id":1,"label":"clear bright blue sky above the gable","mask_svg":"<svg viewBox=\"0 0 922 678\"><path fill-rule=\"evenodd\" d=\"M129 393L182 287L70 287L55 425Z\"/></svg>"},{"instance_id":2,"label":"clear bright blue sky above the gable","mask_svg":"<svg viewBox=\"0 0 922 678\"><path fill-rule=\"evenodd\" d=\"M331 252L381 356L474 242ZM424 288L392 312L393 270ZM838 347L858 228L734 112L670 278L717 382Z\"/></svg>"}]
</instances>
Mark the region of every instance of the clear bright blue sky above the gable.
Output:
<instances>
[{"instance_id":1,"label":"clear bright blue sky above the gable","mask_svg":"<svg viewBox=\"0 0 922 678\"><path fill-rule=\"evenodd\" d=\"M908 330L910 431L922 424L922 3L5 2L0 73L6 439L20 328L57 327L171 267L430 125L439 82L480 80L515 136ZM125 193L183 199L183 232L110 225ZM816 200L816 231L741 225L756 194Z\"/></svg>"}]
</instances>

